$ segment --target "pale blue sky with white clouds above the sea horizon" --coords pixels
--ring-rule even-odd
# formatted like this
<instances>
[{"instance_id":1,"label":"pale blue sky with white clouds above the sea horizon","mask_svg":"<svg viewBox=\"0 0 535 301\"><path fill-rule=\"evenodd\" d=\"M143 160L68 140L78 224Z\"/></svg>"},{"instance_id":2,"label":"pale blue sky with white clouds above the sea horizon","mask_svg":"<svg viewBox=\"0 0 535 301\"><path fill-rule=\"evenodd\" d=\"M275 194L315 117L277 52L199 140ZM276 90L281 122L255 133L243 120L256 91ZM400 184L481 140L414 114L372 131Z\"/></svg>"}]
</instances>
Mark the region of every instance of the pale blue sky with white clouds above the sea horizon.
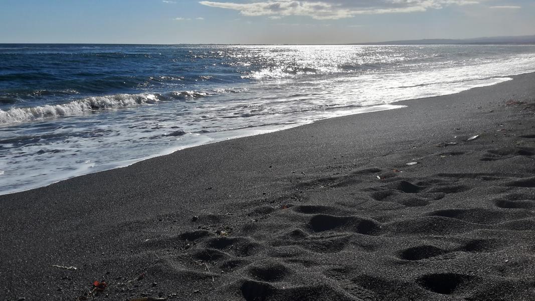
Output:
<instances>
[{"instance_id":1,"label":"pale blue sky with white clouds above the sea horizon","mask_svg":"<svg viewBox=\"0 0 535 301\"><path fill-rule=\"evenodd\" d=\"M535 34L535 0L0 0L0 43L336 44Z\"/></svg>"}]
</instances>

